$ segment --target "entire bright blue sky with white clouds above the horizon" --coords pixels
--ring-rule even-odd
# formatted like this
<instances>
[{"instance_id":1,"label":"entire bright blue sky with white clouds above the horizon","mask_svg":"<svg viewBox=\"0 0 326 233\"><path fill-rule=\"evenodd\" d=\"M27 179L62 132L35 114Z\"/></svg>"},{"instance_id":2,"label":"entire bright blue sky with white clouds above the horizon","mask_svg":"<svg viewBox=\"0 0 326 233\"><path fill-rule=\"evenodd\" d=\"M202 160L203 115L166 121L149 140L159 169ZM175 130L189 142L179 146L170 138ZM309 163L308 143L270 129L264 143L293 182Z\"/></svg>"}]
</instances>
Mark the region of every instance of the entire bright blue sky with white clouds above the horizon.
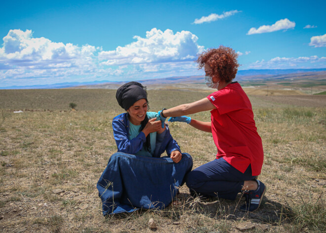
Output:
<instances>
[{"instance_id":1,"label":"entire bright blue sky with white clouds above the horizon","mask_svg":"<svg viewBox=\"0 0 326 233\"><path fill-rule=\"evenodd\" d=\"M6 0L0 87L204 76L194 61L220 45L239 54L239 70L326 68L325 9L325 0Z\"/></svg>"}]
</instances>

